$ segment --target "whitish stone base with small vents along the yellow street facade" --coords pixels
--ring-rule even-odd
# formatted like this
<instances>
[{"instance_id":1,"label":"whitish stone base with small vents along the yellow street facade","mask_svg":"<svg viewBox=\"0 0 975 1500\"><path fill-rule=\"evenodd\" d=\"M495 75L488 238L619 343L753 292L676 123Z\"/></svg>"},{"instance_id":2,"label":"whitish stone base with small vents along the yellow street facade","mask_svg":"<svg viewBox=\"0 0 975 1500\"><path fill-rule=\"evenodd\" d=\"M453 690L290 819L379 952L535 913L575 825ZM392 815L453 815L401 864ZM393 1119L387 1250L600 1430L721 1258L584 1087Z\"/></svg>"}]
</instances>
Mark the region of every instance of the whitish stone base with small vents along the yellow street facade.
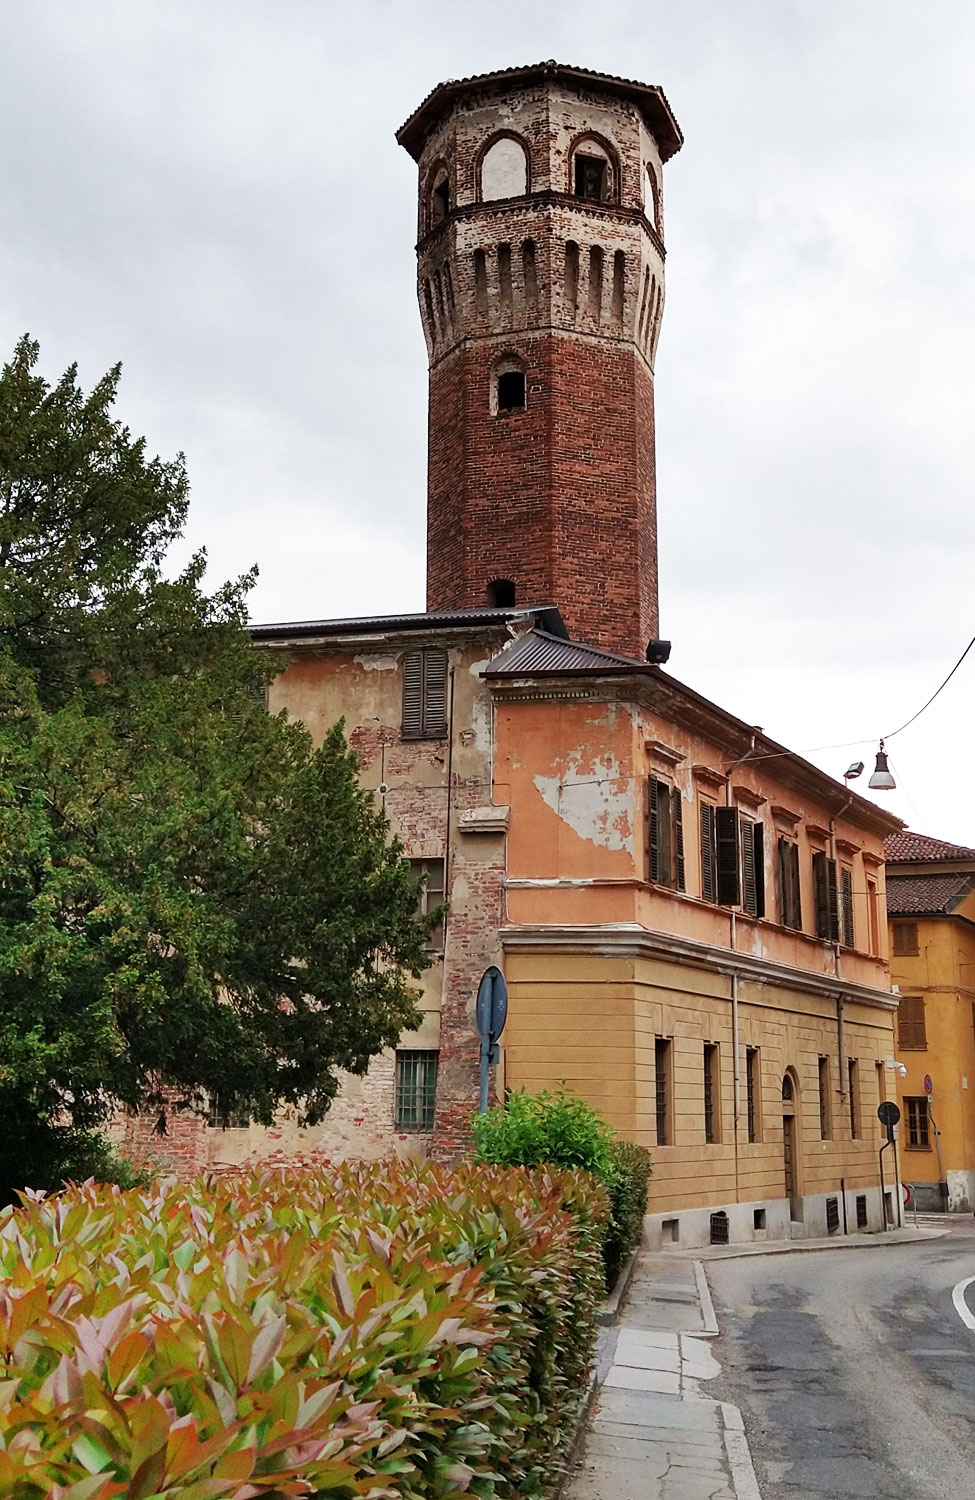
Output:
<instances>
[{"instance_id":1,"label":"whitish stone base with small vents along the yellow street facade","mask_svg":"<svg viewBox=\"0 0 975 1500\"><path fill-rule=\"evenodd\" d=\"M896 1198L888 1188L886 1212L892 1221ZM814 1192L789 1203L771 1198L756 1203L724 1203L714 1208L672 1209L646 1214L644 1244L648 1250L700 1250L705 1245L750 1245L764 1240L824 1239L843 1234L876 1234L884 1230L879 1186ZM794 1216L798 1214L800 1216Z\"/></svg>"}]
</instances>

